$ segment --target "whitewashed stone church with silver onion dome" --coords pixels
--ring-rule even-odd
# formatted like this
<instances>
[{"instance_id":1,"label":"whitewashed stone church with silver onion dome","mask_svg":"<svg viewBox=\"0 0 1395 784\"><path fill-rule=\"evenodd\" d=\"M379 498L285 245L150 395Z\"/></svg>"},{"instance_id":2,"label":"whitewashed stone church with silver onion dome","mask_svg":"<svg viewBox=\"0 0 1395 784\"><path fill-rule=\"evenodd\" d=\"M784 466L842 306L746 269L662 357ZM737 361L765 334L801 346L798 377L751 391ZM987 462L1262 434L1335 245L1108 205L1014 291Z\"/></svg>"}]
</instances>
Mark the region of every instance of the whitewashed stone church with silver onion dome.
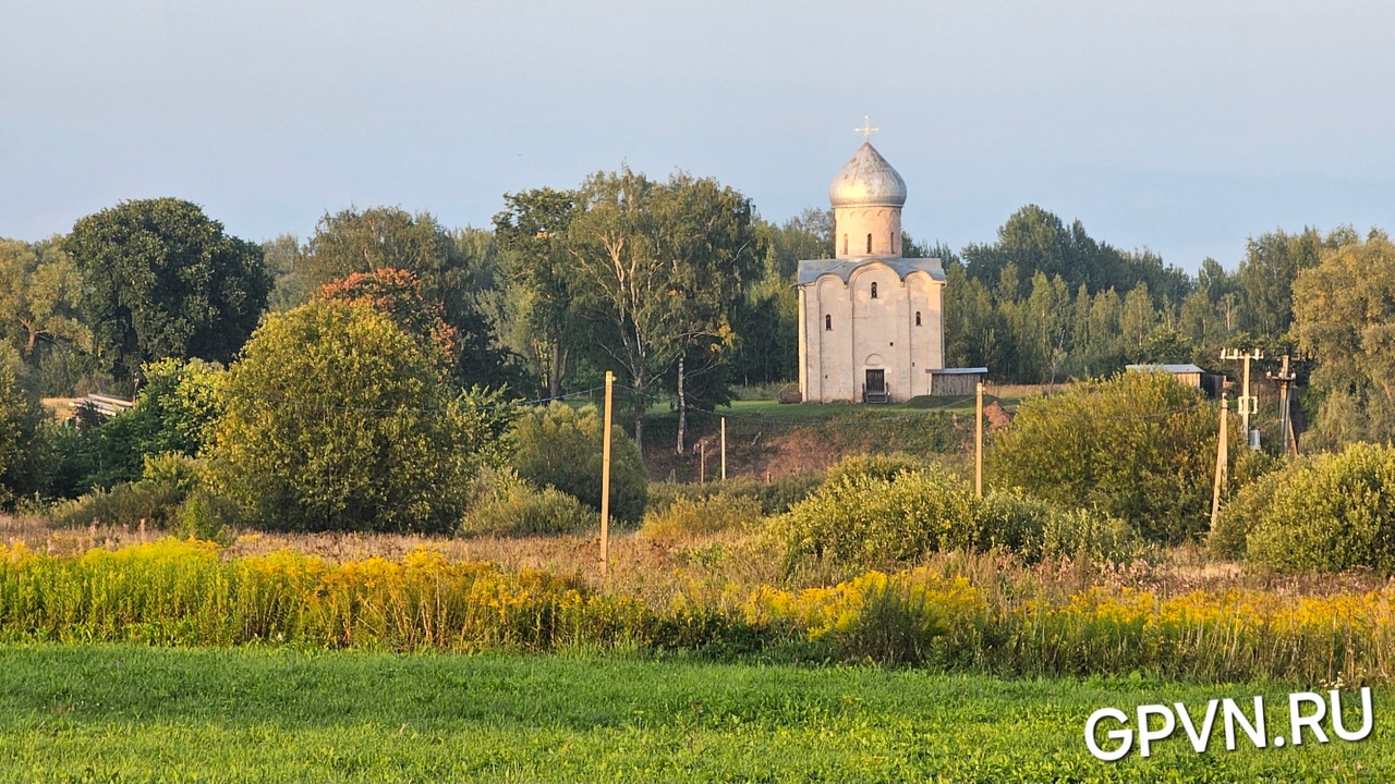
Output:
<instances>
[{"instance_id":1,"label":"whitewashed stone church with silver onion dome","mask_svg":"<svg viewBox=\"0 0 1395 784\"><path fill-rule=\"evenodd\" d=\"M901 258L905 181L864 141L829 187L834 258L799 262L806 403L904 402L944 370L944 269Z\"/></svg>"}]
</instances>

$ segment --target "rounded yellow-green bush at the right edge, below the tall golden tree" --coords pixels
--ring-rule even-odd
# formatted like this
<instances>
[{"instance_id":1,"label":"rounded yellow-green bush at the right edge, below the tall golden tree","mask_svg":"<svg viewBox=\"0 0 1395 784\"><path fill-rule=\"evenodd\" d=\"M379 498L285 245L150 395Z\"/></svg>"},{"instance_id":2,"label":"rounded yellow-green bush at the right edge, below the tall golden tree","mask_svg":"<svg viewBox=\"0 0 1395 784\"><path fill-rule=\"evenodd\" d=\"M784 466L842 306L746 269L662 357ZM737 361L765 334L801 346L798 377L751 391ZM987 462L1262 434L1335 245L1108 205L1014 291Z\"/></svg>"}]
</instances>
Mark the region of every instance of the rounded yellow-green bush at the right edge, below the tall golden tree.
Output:
<instances>
[{"instance_id":1,"label":"rounded yellow-green bush at the right edge, below the tall golden tree","mask_svg":"<svg viewBox=\"0 0 1395 784\"><path fill-rule=\"evenodd\" d=\"M1392 575L1395 448L1355 444L1336 455L1293 463L1254 485L1233 525L1237 530L1250 526L1250 559L1274 569L1368 566Z\"/></svg>"}]
</instances>

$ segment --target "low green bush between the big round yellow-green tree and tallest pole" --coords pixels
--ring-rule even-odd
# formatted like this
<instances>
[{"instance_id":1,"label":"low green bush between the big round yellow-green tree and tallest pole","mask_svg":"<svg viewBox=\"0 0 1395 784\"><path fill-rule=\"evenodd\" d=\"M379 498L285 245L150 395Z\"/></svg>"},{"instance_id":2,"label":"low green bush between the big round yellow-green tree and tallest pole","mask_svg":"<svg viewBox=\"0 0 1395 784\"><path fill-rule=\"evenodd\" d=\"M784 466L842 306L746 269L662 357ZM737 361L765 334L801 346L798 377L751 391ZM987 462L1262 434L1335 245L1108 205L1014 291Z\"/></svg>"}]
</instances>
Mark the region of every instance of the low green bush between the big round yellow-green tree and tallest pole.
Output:
<instances>
[{"instance_id":1,"label":"low green bush between the big round yellow-green tree and tallest pole","mask_svg":"<svg viewBox=\"0 0 1395 784\"><path fill-rule=\"evenodd\" d=\"M594 511L571 495L541 491L509 470L481 472L462 533L537 536L582 533L598 525Z\"/></svg>"}]
</instances>

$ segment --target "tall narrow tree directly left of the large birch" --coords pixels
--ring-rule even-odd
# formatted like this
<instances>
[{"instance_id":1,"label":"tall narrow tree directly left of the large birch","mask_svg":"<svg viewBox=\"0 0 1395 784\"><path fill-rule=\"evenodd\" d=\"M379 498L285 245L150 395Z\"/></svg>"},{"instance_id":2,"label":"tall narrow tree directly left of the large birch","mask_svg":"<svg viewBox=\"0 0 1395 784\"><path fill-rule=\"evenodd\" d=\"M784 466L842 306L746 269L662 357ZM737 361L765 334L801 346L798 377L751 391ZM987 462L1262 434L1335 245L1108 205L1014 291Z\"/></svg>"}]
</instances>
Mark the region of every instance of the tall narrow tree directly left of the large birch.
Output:
<instances>
[{"instance_id":1,"label":"tall narrow tree directly left of the large birch","mask_svg":"<svg viewBox=\"0 0 1395 784\"><path fill-rule=\"evenodd\" d=\"M575 191L552 188L504 194L505 209L494 216L508 279L511 347L533 364L554 399L580 342L562 247L578 215Z\"/></svg>"}]
</instances>

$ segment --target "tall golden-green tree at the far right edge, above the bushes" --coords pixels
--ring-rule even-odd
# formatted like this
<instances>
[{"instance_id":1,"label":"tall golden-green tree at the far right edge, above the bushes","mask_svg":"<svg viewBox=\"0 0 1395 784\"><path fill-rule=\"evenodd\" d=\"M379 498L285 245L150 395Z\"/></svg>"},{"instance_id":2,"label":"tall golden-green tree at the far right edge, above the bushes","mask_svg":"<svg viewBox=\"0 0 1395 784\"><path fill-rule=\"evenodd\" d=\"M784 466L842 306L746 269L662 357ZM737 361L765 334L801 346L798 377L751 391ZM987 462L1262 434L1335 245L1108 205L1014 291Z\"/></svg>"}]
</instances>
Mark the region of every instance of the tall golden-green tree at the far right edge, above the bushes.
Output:
<instances>
[{"instance_id":1,"label":"tall golden-green tree at the far right edge, above the bushes","mask_svg":"<svg viewBox=\"0 0 1395 784\"><path fill-rule=\"evenodd\" d=\"M1293 282L1293 333L1317 365L1318 445L1395 437L1395 246L1373 229L1366 241L1322 252Z\"/></svg>"}]
</instances>

